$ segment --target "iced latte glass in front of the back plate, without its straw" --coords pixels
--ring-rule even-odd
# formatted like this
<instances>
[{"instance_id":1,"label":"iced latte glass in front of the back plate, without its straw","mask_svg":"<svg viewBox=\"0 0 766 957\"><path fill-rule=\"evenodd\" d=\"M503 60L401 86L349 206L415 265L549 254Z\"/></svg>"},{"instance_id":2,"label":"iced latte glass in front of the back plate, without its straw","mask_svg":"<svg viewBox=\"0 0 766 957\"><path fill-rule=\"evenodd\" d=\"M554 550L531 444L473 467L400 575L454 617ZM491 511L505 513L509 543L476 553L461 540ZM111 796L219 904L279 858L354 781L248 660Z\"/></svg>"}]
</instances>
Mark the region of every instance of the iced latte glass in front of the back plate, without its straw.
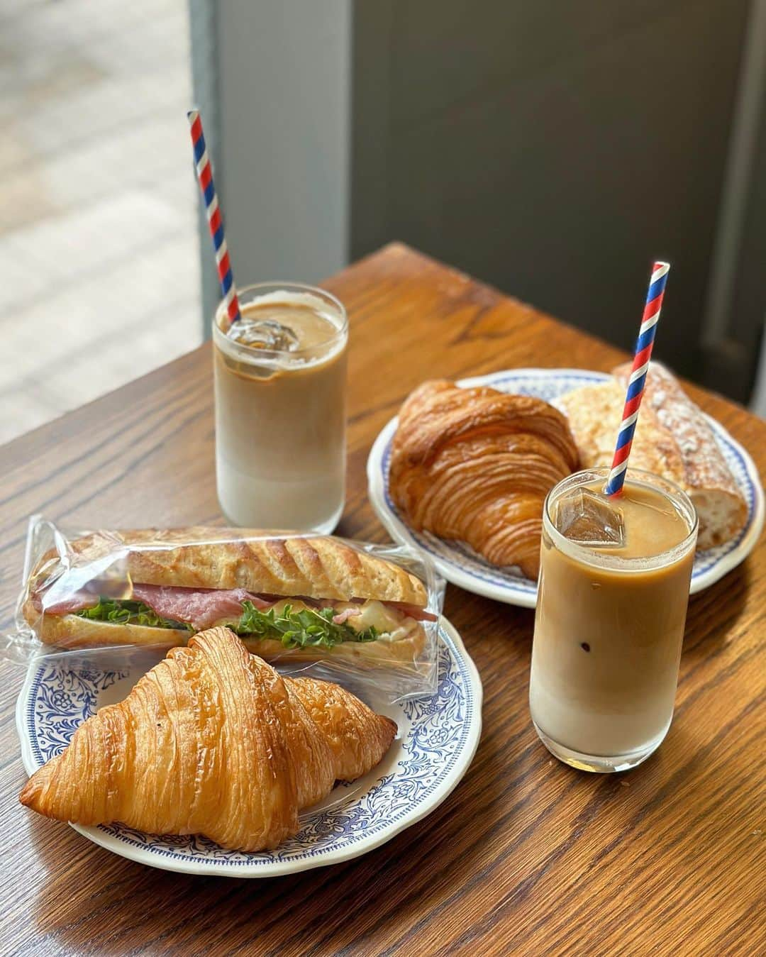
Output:
<instances>
[{"instance_id":1,"label":"iced latte glass in front of the back plate, without its straw","mask_svg":"<svg viewBox=\"0 0 766 957\"><path fill-rule=\"evenodd\" d=\"M599 495L607 474L579 472L545 501L530 677L540 739L590 771L634 768L668 733L697 539L694 506L672 482L630 469L610 500Z\"/></svg>"}]
</instances>

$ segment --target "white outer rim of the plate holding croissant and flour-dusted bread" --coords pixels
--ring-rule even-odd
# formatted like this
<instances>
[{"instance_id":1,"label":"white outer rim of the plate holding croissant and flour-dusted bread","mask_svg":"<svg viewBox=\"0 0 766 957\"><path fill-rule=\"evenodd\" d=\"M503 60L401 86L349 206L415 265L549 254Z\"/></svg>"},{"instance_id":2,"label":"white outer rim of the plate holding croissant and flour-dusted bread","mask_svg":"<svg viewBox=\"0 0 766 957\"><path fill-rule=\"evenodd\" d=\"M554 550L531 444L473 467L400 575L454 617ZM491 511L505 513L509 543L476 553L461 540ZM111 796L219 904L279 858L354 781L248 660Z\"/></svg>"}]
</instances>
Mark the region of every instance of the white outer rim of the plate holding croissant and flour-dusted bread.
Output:
<instances>
[{"instance_id":1,"label":"white outer rim of the plate holding croissant and flour-dusted bread","mask_svg":"<svg viewBox=\"0 0 766 957\"><path fill-rule=\"evenodd\" d=\"M509 377L545 380L568 378L597 383L606 381L609 375L606 372L584 368L519 367L499 369L496 372L489 372L485 375L459 379L457 380L457 385L464 388L492 386L492 384L498 380L507 379ZM696 594L698 591L710 588L711 585L715 584L715 582L719 581L724 575L728 574L747 558L755 547L755 543L761 533L764 523L764 513L766 512L764 508L763 487L753 458L720 422L705 412L703 412L703 414L711 425L716 439L728 446L733 455L738 457L747 475L749 481L748 487L743 488L740 485L740 488L748 500L748 510L752 517L737 538L733 540L726 554L717 559L713 559L710 565L703 566L702 568L699 568L698 563L695 561L689 594ZM426 551L436 568L438 568L444 577L453 585L506 604L516 605L521 608L535 608L537 600L536 583L521 577L500 582L496 577L492 579L483 578L478 571L459 567L455 562L459 560L461 553L467 558L470 558L473 563L478 562L481 565L486 565L487 563L479 556L473 555L471 549L462 543L447 543L446 540L439 540L439 545L447 547L447 557L437 552L435 548L428 547L428 539L435 539L435 536L431 536L428 532L416 536L412 529L405 523L404 519L400 517L393 503L388 501L385 478L388 470L391 441L396 432L397 424L398 416L394 415L386 422L383 429L377 435L370 449L369 456L367 456L367 492L370 503L385 529L394 541L403 545L409 545L421 551ZM698 554L704 555L705 552ZM491 573L492 569L488 565L488 574Z\"/></svg>"}]
</instances>

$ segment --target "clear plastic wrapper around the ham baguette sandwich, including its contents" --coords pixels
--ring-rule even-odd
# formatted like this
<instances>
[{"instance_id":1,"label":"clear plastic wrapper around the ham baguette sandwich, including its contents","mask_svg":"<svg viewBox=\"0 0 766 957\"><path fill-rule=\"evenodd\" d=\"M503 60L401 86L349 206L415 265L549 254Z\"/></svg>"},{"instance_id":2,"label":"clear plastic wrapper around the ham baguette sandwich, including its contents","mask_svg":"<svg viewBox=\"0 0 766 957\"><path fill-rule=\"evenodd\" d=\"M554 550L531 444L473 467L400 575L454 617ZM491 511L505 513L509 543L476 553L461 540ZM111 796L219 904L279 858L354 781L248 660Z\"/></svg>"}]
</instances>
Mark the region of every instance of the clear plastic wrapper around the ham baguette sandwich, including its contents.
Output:
<instances>
[{"instance_id":1,"label":"clear plastic wrapper around the ham baguette sandwich, including its contents","mask_svg":"<svg viewBox=\"0 0 766 957\"><path fill-rule=\"evenodd\" d=\"M151 667L227 623L280 673L393 702L436 690L443 598L427 559L402 546L226 528L72 531L33 516L0 657L86 671L145 657Z\"/></svg>"}]
</instances>

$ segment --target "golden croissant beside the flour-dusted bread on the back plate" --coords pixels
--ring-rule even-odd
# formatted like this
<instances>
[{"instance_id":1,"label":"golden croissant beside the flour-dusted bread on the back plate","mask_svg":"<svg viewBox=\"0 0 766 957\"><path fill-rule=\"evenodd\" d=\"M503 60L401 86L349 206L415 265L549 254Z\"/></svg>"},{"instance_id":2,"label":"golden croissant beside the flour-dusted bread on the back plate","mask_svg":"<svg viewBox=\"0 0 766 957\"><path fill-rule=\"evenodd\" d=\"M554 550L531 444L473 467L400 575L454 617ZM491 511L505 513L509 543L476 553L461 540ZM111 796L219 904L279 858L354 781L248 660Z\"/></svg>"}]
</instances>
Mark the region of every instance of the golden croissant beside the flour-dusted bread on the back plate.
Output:
<instances>
[{"instance_id":1,"label":"golden croissant beside the flour-dusted bread on the back plate","mask_svg":"<svg viewBox=\"0 0 766 957\"><path fill-rule=\"evenodd\" d=\"M399 412L389 489L414 528L536 578L543 501L577 467L566 419L547 402L439 380Z\"/></svg>"}]
</instances>

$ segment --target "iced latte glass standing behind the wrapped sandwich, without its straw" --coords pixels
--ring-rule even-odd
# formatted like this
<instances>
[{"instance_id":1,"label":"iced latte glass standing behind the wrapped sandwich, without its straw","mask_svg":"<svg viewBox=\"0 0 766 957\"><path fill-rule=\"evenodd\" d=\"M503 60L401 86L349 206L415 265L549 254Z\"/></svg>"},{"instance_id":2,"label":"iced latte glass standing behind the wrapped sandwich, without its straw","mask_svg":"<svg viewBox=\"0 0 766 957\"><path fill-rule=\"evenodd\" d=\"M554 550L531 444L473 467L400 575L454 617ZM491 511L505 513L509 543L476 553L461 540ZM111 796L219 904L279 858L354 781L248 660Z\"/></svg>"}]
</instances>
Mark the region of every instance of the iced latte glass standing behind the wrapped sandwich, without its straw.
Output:
<instances>
[{"instance_id":1,"label":"iced latte glass standing behind the wrapped sandwich, without its straw","mask_svg":"<svg viewBox=\"0 0 766 957\"><path fill-rule=\"evenodd\" d=\"M348 323L300 283L237 290L212 325L218 501L236 525L331 532L343 510Z\"/></svg>"}]
</instances>

